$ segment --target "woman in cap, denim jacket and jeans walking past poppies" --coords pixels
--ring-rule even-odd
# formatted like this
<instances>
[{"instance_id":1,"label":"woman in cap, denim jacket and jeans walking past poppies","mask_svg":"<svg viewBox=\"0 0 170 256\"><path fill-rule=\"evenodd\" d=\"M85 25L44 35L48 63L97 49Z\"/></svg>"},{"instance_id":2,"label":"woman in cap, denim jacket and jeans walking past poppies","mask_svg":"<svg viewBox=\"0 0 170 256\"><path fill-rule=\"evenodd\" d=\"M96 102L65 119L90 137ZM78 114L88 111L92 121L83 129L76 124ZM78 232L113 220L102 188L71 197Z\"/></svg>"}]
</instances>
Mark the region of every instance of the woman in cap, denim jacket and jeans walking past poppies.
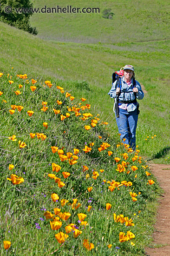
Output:
<instances>
[{"instance_id":1,"label":"woman in cap, denim jacket and jeans walking past poppies","mask_svg":"<svg viewBox=\"0 0 170 256\"><path fill-rule=\"evenodd\" d=\"M119 86L118 86L119 85ZM116 122L120 139L124 144L129 144L135 150L136 148L136 128L138 119L138 102L144 98L144 92L138 81L135 80L134 67L125 65L123 67L123 76L120 81L114 81L110 92L111 98L116 101Z\"/></svg>"}]
</instances>

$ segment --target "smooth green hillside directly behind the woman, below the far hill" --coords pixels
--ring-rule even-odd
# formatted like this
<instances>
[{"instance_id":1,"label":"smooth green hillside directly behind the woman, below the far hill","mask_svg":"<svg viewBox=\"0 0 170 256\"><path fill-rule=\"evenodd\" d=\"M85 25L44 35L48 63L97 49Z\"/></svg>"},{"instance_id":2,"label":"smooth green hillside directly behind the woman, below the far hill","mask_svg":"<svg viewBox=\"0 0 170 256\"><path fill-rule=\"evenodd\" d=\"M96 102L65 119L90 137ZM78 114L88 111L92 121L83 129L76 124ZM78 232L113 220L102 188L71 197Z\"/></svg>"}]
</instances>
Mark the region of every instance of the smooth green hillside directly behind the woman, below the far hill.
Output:
<instances>
[{"instance_id":1,"label":"smooth green hillside directly behind the woman, below the far hill","mask_svg":"<svg viewBox=\"0 0 170 256\"><path fill-rule=\"evenodd\" d=\"M84 95L91 101L110 122L112 132L117 131L117 126L113 100L107 95L111 74L124 63L133 64L137 81L148 91L140 101L137 144L143 155L156 157L158 162L170 161L170 40L109 45L57 43L40 40L3 23L0 26L1 72L7 73L11 65L17 72L32 74L35 79L54 79L68 90L76 88L74 95L77 98ZM86 81L87 87L82 81ZM153 141L154 134L157 138ZM147 141L146 136L150 136Z\"/></svg>"}]
</instances>

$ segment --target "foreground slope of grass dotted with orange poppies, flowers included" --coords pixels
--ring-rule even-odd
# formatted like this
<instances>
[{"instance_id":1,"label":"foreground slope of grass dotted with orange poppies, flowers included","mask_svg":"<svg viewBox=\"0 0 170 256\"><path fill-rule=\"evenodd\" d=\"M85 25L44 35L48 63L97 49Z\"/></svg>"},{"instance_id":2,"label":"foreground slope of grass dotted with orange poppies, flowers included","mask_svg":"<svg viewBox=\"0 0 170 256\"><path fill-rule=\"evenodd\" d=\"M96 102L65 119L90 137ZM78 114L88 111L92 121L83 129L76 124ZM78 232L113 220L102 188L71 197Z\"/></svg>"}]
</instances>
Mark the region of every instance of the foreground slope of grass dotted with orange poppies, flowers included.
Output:
<instances>
[{"instance_id":1,"label":"foreground slope of grass dotted with orange poppies, flowers included","mask_svg":"<svg viewBox=\"0 0 170 256\"><path fill-rule=\"evenodd\" d=\"M83 96L0 73L1 255L144 255L157 181Z\"/></svg>"}]
</instances>

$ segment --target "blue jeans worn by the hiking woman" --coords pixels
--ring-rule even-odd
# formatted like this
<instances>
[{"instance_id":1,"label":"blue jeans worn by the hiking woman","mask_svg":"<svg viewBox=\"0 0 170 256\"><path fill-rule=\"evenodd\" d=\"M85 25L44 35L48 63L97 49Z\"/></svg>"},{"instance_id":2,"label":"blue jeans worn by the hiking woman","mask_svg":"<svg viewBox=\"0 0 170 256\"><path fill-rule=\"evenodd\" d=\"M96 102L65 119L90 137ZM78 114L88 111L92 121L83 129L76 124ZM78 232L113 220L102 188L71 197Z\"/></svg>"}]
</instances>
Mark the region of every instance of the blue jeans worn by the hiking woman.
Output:
<instances>
[{"instance_id":1,"label":"blue jeans worn by the hiking woman","mask_svg":"<svg viewBox=\"0 0 170 256\"><path fill-rule=\"evenodd\" d=\"M116 117L118 132L123 143L129 144L135 150L136 148L136 128L137 128L137 109L131 112L119 108L119 118ZM123 139L126 139L123 141Z\"/></svg>"}]
</instances>

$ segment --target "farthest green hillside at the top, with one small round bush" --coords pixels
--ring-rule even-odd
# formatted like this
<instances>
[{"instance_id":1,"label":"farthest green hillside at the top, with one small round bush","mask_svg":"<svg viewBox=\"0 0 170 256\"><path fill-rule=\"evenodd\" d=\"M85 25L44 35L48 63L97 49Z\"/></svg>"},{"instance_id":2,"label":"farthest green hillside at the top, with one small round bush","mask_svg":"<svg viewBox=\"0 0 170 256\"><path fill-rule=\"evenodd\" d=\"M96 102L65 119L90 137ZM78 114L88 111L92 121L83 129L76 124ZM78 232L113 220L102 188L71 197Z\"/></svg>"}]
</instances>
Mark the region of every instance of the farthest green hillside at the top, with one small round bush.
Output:
<instances>
[{"instance_id":1,"label":"farthest green hillside at the top, with one small round bush","mask_svg":"<svg viewBox=\"0 0 170 256\"><path fill-rule=\"evenodd\" d=\"M116 0L34 0L34 7L98 7L100 13L36 13L32 25L47 40L118 43L170 39L170 2ZM102 18L110 8L113 19Z\"/></svg>"}]
</instances>

